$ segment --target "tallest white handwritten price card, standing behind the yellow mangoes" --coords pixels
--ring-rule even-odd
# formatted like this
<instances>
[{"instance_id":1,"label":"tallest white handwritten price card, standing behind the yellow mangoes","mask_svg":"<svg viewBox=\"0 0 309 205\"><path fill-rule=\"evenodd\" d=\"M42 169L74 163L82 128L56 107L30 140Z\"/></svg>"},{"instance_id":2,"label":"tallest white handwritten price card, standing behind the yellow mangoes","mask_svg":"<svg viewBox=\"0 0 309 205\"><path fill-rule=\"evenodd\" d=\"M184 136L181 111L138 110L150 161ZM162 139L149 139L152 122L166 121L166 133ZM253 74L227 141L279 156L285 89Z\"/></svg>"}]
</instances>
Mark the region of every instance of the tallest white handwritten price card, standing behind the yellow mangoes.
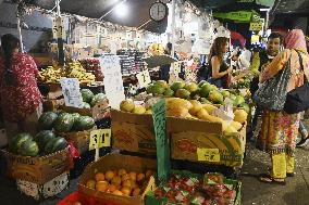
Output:
<instances>
[{"instance_id":1,"label":"tallest white handwritten price card, standing behind the yellow mangoes","mask_svg":"<svg viewBox=\"0 0 309 205\"><path fill-rule=\"evenodd\" d=\"M103 82L109 104L112 108L119 108L121 101L125 100L120 57L103 55L100 57L100 65L104 74Z\"/></svg>"}]
</instances>

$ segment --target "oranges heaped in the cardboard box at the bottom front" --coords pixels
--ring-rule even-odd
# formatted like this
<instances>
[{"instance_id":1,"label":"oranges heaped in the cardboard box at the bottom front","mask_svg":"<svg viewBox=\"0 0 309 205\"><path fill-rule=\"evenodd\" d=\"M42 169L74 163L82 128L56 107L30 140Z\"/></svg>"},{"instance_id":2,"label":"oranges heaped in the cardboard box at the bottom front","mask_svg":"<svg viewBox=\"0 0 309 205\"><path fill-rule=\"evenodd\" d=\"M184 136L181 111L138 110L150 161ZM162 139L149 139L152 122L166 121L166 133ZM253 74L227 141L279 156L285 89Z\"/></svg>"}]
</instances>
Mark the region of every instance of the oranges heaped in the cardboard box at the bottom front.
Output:
<instances>
[{"instance_id":1,"label":"oranges heaped in the cardboard box at the bottom front","mask_svg":"<svg viewBox=\"0 0 309 205\"><path fill-rule=\"evenodd\" d=\"M127 171L124 168L119 170L107 170L97 172L94 179L86 182L86 187L106 193L123 196L137 196L143 193L148 179L153 170L146 172Z\"/></svg>"}]
</instances>

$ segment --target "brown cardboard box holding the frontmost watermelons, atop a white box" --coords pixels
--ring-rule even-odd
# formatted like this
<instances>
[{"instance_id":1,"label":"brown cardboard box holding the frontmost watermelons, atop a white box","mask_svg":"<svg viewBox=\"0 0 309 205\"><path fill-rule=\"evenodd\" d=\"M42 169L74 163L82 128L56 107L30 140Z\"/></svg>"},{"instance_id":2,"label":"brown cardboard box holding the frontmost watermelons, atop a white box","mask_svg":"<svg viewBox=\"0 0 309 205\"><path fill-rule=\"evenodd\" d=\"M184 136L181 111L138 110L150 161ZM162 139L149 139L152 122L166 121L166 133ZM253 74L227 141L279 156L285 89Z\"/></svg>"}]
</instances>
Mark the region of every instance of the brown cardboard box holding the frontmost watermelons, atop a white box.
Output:
<instances>
[{"instance_id":1,"label":"brown cardboard box holding the frontmost watermelons, atop a white box","mask_svg":"<svg viewBox=\"0 0 309 205\"><path fill-rule=\"evenodd\" d=\"M8 164L8 175L13 179L44 184L70 170L69 148L46 156L21 156L2 150Z\"/></svg>"}]
</instances>

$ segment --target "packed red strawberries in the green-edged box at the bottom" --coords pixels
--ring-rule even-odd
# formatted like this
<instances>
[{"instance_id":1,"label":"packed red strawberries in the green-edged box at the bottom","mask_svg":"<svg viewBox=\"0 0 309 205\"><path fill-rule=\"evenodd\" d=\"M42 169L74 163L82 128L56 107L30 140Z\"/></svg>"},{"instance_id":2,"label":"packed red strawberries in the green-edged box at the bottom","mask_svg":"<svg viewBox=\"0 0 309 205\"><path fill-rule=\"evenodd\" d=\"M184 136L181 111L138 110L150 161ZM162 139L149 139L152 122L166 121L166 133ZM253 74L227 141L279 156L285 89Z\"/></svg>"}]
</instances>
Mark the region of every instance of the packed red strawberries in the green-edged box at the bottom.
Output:
<instances>
[{"instance_id":1,"label":"packed red strawberries in the green-edged box at the bottom","mask_svg":"<svg viewBox=\"0 0 309 205\"><path fill-rule=\"evenodd\" d=\"M235 187L224 180L220 174L207 174L205 180L172 175L165 185L157 188L154 197L166 198L169 204L233 205Z\"/></svg>"}]
</instances>

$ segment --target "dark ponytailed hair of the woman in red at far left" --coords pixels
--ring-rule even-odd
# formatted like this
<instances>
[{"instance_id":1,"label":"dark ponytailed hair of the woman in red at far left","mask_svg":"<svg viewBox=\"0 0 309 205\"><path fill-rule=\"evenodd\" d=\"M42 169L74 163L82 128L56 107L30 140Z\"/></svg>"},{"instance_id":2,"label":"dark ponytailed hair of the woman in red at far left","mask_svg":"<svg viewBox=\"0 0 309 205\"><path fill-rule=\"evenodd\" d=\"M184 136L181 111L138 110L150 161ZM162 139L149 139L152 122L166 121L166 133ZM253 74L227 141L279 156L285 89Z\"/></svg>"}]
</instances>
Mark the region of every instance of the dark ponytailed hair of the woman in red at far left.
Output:
<instances>
[{"instance_id":1,"label":"dark ponytailed hair of the woman in red at far left","mask_svg":"<svg viewBox=\"0 0 309 205\"><path fill-rule=\"evenodd\" d=\"M20 39L11 34L1 37L2 55L4 57L4 81L8 86L16 85L16 77L12 69L12 57L14 51L20 49Z\"/></svg>"}]
</instances>

